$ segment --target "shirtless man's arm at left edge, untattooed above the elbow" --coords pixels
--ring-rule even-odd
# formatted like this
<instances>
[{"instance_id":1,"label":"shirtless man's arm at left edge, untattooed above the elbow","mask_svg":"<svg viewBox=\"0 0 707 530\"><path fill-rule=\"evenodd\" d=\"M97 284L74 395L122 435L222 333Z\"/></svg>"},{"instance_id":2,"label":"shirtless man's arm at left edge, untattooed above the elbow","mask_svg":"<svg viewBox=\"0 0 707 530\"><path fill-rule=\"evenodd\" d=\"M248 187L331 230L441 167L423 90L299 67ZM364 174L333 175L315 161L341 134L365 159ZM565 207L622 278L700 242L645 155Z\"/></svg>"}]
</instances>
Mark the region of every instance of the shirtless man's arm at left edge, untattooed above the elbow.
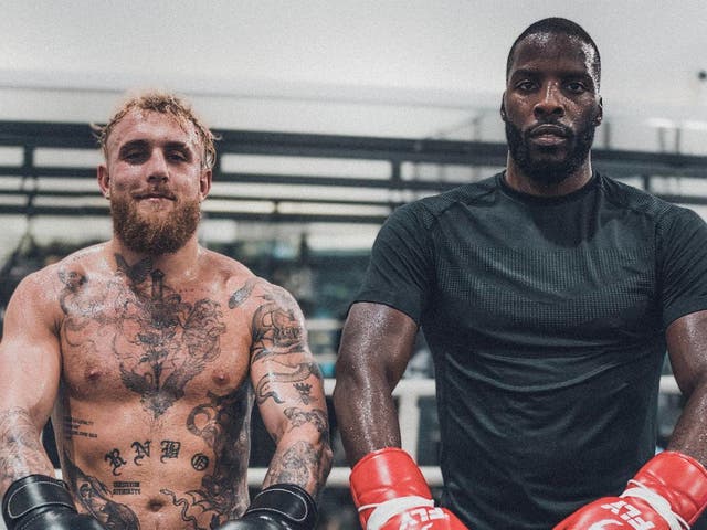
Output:
<instances>
[{"instance_id":1,"label":"shirtless man's arm at left edge, untattooed above the elbow","mask_svg":"<svg viewBox=\"0 0 707 530\"><path fill-rule=\"evenodd\" d=\"M60 353L45 292L34 275L17 288L0 343L0 495L30 474L53 476L41 443L59 389Z\"/></svg>"}]
</instances>

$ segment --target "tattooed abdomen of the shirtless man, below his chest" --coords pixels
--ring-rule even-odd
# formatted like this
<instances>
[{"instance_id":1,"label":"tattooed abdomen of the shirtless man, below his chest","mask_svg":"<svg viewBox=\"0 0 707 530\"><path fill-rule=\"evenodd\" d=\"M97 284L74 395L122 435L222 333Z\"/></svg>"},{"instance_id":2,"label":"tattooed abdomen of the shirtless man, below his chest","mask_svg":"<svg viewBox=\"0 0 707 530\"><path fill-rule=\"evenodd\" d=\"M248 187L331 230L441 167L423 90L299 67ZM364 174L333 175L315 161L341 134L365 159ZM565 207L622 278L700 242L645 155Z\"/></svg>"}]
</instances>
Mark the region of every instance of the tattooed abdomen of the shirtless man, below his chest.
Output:
<instances>
[{"instance_id":1,"label":"tattooed abdomen of the shirtless man, below his chest","mask_svg":"<svg viewBox=\"0 0 707 530\"><path fill-rule=\"evenodd\" d=\"M110 530L210 530L238 518L249 505L247 422L224 427L219 410L182 401L155 420L139 403L57 407L63 479L80 511Z\"/></svg>"}]
</instances>

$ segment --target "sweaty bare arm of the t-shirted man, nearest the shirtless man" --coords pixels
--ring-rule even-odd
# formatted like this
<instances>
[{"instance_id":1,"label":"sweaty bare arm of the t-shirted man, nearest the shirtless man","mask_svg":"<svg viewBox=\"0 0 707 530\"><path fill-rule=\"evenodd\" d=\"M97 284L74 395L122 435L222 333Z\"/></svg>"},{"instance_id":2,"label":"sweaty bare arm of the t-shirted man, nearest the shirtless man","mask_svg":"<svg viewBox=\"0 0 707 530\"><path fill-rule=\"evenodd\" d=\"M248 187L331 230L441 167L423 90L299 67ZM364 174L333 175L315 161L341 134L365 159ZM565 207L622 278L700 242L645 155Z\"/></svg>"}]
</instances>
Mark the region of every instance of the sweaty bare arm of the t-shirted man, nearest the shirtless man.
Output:
<instances>
[{"instance_id":1,"label":"sweaty bare arm of the t-shirted man, nearest the shirtless man","mask_svg":"<svg viewBox=\"0 0 707 530\"><path fill-rule=\"evenodd\" d=\"M334 406L350 465L382 447L400 447L392 391L410 361L418 326L381 304L355 304L336 365Z\"/></svg>"}]
</instances>

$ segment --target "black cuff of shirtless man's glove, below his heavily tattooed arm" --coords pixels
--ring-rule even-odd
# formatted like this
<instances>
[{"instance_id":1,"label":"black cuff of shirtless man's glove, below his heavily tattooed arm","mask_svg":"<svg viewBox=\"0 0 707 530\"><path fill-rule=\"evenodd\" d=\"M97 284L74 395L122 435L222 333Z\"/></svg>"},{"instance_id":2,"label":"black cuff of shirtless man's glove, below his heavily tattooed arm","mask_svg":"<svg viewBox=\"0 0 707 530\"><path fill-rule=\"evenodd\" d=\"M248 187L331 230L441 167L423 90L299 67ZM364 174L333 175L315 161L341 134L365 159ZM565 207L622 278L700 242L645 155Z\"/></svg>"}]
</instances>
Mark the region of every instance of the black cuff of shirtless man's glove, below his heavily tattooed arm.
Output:
<instances>
[{"instance_id":1,"label":"black cuff of shirtless man's glove, below his heavily tattooed arm","mask_svg":"<svg viewBox=\"0 0 707 530\"><path fill-rule=\"evenodd\" d=\"M283 519L300 530L312 530L317 522L317 505L312 496L294 484L274 484L255 496L249 513Z\"/></svg>"}]
</instances>

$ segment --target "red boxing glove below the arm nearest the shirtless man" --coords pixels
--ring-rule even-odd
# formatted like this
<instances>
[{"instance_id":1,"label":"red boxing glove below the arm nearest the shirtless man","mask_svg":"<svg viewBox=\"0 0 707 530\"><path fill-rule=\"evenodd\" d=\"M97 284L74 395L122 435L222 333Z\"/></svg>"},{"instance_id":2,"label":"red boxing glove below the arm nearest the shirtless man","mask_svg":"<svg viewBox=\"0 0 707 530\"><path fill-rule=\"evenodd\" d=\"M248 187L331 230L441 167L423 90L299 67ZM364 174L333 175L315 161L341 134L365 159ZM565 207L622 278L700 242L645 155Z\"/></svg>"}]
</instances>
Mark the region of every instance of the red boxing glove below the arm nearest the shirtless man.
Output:
<instances>
[{"instance_id":1,"label":"red boxing glove below the arm nearest the shirtless man","mask_svg":"<svg viewBox=\"0 0 707 530\"><path fill-rule=\"evenodd\" d=\"M351 496L365 530L467 530L434 506L422 471L397 447L369 453L354 466Z\"/></svg>"}]
</instances>

